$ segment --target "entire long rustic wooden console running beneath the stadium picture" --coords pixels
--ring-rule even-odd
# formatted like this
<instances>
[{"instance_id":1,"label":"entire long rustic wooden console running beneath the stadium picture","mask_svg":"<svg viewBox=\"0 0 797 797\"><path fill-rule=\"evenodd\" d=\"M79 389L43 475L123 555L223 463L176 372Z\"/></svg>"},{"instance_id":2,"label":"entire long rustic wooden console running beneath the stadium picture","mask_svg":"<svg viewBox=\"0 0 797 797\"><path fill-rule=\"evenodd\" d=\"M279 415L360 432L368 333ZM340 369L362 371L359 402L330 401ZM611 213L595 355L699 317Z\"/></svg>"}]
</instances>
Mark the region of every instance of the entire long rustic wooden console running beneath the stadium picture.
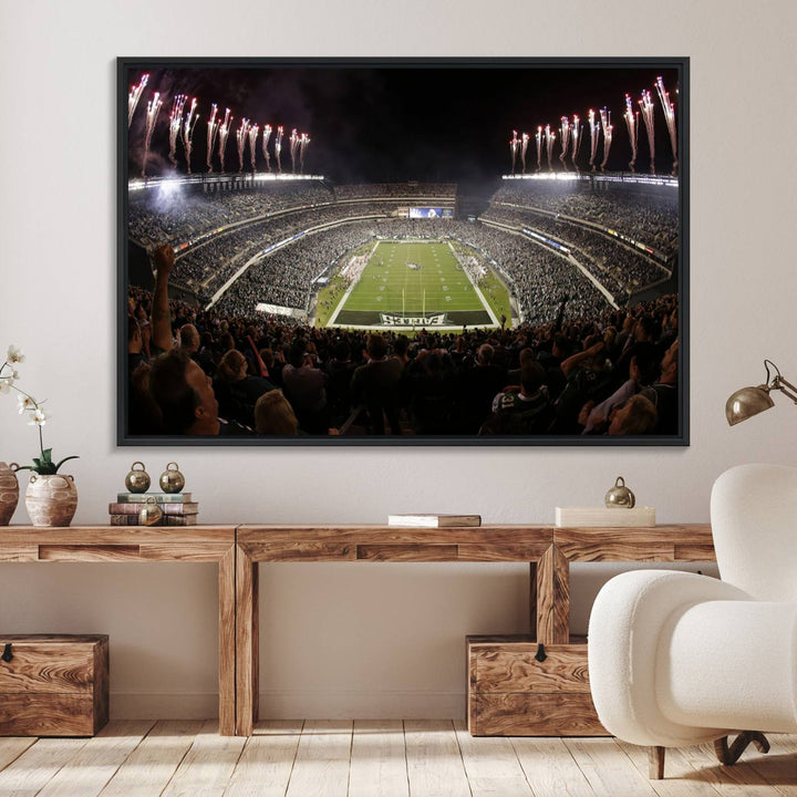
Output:
<instances>
[{"instance_id":1,"label":"entire long rustic wooden console running beneath the stadium picture","mask_svg":"<svg viewBox=\"0 0 797 797\"><path fill-rule=\"evenodd\" d=\"M217 562L219 733L245 736L258 716L259 562L528 562L528 636L548 646L569 642L570 562L713 559L707 525L0 527L0 562Z\"/></svg>"}]
</instances>

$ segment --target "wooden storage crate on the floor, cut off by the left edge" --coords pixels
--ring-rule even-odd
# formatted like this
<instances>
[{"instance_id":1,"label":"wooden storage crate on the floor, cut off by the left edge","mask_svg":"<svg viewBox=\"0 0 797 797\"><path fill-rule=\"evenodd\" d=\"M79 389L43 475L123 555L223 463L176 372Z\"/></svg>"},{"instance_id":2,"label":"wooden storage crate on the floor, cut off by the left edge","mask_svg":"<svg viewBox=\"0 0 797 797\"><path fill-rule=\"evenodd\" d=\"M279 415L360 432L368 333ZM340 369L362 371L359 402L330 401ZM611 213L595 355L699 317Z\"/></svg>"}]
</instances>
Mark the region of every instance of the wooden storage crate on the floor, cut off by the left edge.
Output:
<instances>
[{"instance_id":1,"label":"wooden storage crate on the floor, cut off by the left edge","mask_svg":"<svg viewBox=\"0 0 797 797\"><path fill-rule=\"evenodd\" d=\"M0 635L0 736L93 736L108 720L108 638Z\"/></svg>"}]
</instances>

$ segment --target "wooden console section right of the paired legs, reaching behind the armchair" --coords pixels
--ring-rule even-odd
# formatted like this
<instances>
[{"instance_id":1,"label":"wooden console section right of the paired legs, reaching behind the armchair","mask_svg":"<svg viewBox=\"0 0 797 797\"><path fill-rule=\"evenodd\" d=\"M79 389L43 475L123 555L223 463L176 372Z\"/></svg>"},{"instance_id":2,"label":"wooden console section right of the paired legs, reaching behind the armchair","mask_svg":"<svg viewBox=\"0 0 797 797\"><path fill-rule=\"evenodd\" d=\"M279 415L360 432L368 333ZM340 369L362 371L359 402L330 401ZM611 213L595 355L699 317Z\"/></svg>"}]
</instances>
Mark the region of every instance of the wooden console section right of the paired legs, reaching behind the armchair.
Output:
<instances>
[{"instance_id":1,"label":"wooden console section right of the paired legs, reaching behind the armchair","mask_svg":"<svg viewBox=\"0 0 797 797\"><path fill-rule=\"evenodd\" d=\"M529 634L567 644L571 561L711 561L707 525L655 528L239 526L236 555L236 733L258 718L259 562L528 562Z\"/></svg>"}]
</instances>

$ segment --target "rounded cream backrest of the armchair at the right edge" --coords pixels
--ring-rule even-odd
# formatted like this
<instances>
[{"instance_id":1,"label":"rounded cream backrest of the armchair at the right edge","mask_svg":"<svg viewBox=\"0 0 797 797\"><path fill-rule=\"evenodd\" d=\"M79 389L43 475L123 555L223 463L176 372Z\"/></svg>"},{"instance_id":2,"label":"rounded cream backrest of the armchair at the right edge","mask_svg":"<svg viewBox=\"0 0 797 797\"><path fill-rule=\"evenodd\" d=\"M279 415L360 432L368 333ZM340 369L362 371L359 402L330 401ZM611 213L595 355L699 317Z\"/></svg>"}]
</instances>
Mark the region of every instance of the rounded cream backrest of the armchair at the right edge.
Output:
<instances>
[{"instance_id":1,"label":"rounded cream backrest of the armchair at the right edge","mask_svg":"<svg viewBox=\"0 0 797 797\"><path fill-rule=\"evenodd\" d=\"M797 468L739 465L714 483L720 576L758 600L797 602Z\"/></svg>"}]
</instances>

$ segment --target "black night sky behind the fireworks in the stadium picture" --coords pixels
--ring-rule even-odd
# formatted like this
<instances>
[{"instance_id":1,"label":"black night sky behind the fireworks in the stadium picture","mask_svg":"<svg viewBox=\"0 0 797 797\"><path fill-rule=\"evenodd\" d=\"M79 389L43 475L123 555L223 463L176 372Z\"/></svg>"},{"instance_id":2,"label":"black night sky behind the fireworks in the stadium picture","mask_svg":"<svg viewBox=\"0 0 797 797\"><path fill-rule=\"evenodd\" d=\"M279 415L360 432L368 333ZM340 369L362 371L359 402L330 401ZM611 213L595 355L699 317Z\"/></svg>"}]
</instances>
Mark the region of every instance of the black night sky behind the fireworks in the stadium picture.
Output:
<instances>
[{"instance_id":1,"label":"black night sky behind the fireworks in the stadium picture","mask_svg":"<svg viewBox=\"0 0 797 797\"><path fill-rule=\"evenodd\" d=\"M588 167L590 136L588 111L607 106L614 126L608 168L625 169L631 159L629 133L623 120L625 93L639 110L643 89L652 93L655 104L656 170L669 173L672 166L670 138L654 81L662 75L671 99L679 108L679 71L652 66L578 65L566 68L550 64L452 65L402 63L385 68L370 65L341 66L330 61L318 65L259 64L216 66L207 62L176 69L163 63L131 64L122 80L120 97L121 130L127 130L127 92L143 74L149 80L130 128L128 174L138 177L146 131L146 106L154 92L161 92L164 104L153 130L147 174L174 172L169 149L168 117L176 94L198 101L198 121L193 136L192 170L206 172L207 121L211 103L219 106L219 116L229 107L232 122L226 147L226 170L238 172L236 131L242 117L276 132L284 126L282 170L291 170L289 136L293 127L307 132L304 173L322 174L335 183L370 182L458 182L477 184L495 180L511 169L509 139L511 131L531 136L526 161L527 172L535 172L537 152L535 133L538 125L550 124L557 132L553 159L560 168L560 117L573 114L581 118L582 143L579 164ZM273 134L269 145L272 153ZM218 144L217 144L218 146ZM258 172L266 170L260 138ZM639 116L636 170L649 170L650 151L642 116ZM249 145L245 170L250 169ZM596 162L603 158L601 136ZM276 168L273 156L271 166ZM571 167L568 157L568 167ZM545 143L542 168L547 169ZM177 145L177 170L185 173L185 152ZM214 170L219 170L215 156ZM298 157L297 157L298 170ZM517 172L521 170L518 154Z\"/></svg>"}]
</instances>

